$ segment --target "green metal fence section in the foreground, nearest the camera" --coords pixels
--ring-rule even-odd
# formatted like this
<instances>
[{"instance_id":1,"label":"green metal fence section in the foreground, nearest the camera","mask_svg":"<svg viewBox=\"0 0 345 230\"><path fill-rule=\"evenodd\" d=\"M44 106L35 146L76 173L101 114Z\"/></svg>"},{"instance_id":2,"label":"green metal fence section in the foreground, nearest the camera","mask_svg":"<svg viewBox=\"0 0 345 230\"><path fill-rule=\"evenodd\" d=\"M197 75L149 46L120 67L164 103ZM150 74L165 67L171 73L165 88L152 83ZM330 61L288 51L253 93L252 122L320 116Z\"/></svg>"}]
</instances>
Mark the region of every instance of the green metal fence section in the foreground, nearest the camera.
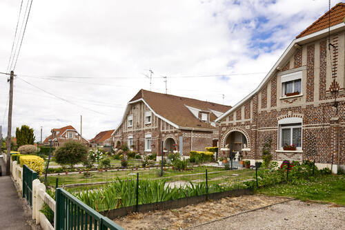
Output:
<instances>
[{"instance_id":1,"label":"green metal fence section in the foreground, nearest the camera","mask_svg":"<svg viewBox=\"0 0 345 230\"><path fill-rule=\"evenodd\" d=\"M121 230L118 224L97 213L64 189L56 191L55 229Z\"/></svg>"}]
</instances>

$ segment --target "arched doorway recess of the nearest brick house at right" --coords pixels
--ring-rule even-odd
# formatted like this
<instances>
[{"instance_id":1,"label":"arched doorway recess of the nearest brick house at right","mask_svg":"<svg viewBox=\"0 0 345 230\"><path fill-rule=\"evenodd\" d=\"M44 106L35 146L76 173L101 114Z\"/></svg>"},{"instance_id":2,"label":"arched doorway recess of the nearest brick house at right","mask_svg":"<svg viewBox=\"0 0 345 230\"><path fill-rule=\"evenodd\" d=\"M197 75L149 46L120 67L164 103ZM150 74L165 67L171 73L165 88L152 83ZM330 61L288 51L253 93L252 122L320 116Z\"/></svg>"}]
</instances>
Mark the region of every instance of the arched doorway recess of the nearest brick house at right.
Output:
<instances>
[{"instance_id":1,"label":"arched doorway recess of the nearest brick house at right","mask_svg":"<svg viewBox=\"0 0 345 230\"><path fill-rule=\"evenodd\" d=\"M246 136L239 131L232 131L226 137L225 146L230 150L231 157L235 157L236 153L242 153L242 151L248 148L248 140Z\"/></svg>"}]
</instances>

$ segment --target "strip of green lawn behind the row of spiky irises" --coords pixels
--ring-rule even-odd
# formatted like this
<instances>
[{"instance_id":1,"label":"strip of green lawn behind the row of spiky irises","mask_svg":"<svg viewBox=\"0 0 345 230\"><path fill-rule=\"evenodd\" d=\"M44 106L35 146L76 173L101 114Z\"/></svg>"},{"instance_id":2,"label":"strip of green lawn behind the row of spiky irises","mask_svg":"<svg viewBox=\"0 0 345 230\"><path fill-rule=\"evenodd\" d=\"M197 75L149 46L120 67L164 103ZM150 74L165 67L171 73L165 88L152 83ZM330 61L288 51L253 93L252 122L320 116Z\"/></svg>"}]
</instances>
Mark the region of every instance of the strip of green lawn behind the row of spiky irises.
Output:
<instances>
[{"instance_id":1,"label":"strip of green lawn behind the row of spiky irises","mask_svg":"<svg viewBox=\"0 0 345 230\"><path fill-rule=\"evenodd\" d=\"M196 166L193 171L175 171L173 169L166 169L163 178L168 182L204 182L206 181L206 169L208 170L209 184L230 182L237 180L248 180L253 178L253 170L243 169L237 171L225 171L223 168L212 166ZM83 184L93 182L111 182L119 179L136 180L137 173L139 179L158 179L160 177L160 169L146 169L146 170L126 170L126 171L103 171L92 173L92 178L85 178L83 173L69 173L61 175L48 175L48 184L55 186L56 178L59 178L59 185L66 184ZM234 175L235 174L235 175Z\"/></svg>"}]
</instances>

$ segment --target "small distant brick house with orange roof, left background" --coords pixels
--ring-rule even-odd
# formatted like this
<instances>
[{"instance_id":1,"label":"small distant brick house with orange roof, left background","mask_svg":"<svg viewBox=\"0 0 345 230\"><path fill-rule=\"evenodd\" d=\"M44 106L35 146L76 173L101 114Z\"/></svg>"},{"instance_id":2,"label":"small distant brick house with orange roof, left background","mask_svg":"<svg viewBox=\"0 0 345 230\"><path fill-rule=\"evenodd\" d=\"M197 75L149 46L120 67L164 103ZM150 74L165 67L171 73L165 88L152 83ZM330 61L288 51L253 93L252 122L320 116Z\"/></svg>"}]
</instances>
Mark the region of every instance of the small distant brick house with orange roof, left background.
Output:
<instances>
[{"instance_id":1,"label":"small distant brick house with orange roof, left background","mask_svg":"<svg viewBox=\"0 0 345 230\"><path fill-rule=\"evenodd\" d=\"M88 140L81 137L78 131L73 128L73 126L65 126L62 128L53 128L51 130L51 135L46 137L43 144L49 145L50 140L52 140L52 146L60 146L64 142L69 140L76 140L88 144Z\"/></svg>"}]
</instances>

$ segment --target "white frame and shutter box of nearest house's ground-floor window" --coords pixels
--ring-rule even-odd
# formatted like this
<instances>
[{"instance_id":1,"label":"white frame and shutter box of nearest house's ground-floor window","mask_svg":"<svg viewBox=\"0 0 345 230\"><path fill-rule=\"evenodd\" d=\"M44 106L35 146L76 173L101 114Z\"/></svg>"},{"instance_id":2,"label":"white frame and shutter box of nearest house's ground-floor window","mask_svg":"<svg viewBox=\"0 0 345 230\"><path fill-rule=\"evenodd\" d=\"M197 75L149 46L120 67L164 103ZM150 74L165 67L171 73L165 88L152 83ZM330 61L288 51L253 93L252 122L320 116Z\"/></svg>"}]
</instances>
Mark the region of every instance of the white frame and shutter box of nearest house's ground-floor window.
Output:
<instances>
[{"instance_id":1,"label":"white frame and shutter box of nearest house's ground-floor window","mask_svg":"<svg viewBox=\"0 0 345 230\"><path fill-rule=\"evenodd\" d=\"M286 126L282 126L282 125ZM288 124L291 124L290 126ZM282 129L290 128L290 144L293 144L293 128L301 128L301 146L296 146L296 151L302 151L303 148L303 119L300 117L287 117L278 121L278 149L283 150Z\"/></svg>"}]
</instances>

